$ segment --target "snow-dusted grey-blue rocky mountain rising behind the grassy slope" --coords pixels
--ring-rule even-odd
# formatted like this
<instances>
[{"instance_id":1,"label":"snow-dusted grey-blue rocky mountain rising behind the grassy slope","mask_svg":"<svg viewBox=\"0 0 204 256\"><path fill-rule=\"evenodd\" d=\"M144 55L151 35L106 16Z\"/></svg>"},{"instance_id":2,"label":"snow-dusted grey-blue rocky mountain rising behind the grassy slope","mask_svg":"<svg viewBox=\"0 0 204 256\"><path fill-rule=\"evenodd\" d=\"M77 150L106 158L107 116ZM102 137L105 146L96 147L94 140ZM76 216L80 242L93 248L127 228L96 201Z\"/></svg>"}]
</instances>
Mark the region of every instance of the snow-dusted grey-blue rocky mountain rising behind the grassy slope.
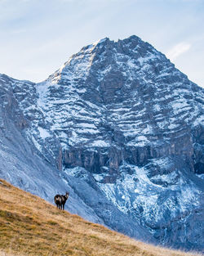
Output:
<instances>
[{"instance_id":1,"label":"snow-dusted grey-blue rocky mountain rising behind the grassy slope","mask_svg":"<svg viewBox=\"0 0 204 256\"><path fill-rule=\"evenodd\" d=\"M203 89L132 36L42 83L0 75L0 174L141 240L203 250Z\"/></svg>"}]
</instances>

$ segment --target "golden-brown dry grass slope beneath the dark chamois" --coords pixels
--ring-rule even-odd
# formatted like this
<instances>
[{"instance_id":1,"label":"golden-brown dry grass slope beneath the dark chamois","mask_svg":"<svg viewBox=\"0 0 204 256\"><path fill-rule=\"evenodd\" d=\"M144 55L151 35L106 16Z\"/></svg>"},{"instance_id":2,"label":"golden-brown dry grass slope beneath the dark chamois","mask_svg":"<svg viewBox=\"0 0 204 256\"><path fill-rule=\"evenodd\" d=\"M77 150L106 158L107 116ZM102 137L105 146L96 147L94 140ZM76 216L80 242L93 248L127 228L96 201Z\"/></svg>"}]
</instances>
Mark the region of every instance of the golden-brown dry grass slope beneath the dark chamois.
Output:
<instances>
[{"instance_id":1,"label":"golden-brown dry grass slope beneath the dark chamois","mask_svg":"<svg viewBox=\"0 0 204 256\"><path fill-rule=\"evenodd\" d=\"M69 201L67 202L69 204ZM60 211L0 180L0 256L184 256L147 245Z\"/></svg>"}]
</instances>

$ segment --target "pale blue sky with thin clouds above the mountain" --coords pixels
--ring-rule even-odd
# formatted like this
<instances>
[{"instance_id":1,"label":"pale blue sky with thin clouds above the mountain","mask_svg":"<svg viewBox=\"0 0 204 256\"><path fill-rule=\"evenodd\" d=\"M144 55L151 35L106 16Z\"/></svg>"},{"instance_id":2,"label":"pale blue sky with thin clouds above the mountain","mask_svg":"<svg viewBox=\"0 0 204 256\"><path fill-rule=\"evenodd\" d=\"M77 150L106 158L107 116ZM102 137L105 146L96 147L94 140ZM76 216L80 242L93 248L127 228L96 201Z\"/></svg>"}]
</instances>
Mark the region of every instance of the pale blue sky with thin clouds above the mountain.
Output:
<instances>
[{"instance_id":1,"label":"pale blue sky with thin clouds above the mountain","mask_svg":"<svg viewBox=\"0 0 204 256\"><path fill-rule=\"evenodd\" d=\"M40 82L83 46L133 34L204 87L204 0L0 0L0 73Z\"/></svg>"}]
</instances>

